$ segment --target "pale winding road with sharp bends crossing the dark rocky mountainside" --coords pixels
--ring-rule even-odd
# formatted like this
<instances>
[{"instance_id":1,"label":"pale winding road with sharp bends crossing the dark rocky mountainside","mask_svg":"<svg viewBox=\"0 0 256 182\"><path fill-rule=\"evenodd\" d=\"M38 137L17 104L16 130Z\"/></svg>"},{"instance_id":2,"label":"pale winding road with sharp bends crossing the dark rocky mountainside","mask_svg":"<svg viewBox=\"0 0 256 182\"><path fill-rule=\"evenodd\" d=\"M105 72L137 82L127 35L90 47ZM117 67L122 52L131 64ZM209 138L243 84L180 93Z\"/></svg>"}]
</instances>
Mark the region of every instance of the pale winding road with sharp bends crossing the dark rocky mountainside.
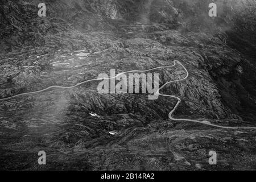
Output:
<instances>
[{"instance_id":1,"label":"pale winding road with sharp bends crossing the dark rocky mountainside","mask_svg":"<svg viewBox=\"0 0 256 182\"><path fill-rule=\"evenodd\" d=\"M166 82L164 85L162 85L157 91L156 91L156 94L159 94L159 96L163 96L163 97L171 97L171 98L176 98L178 101L177 101L177 104L175 105L174 109L172 109L170 111L170 113L168 114L168 117L173 120L173 121L188 121L188 122L195 122L195 123L201 123L203 125L208 125L208 126L213 126L213 127L218 127L218 128L221 128L221 129L256 129L256 127L229 127L229 126L220 126L220 125L214 125L212 123L210 123L209 121L198 121L198 120L194 120L194 119L185 119L185 118L174 118L172 117L172 114L174 113L174 111L177 109L177 107L179 106L181 100L179 97L176 97L176 96L171 96L171 95L166 95L166 94L160 94L159 91L162 90L164 88L164 86L166 86L167 84L171 84L173 82L178 82L178 81L183 81L183 80L186 80L189 76L189 73L187 71L187 69L184 67L183 64L180 63L180 61L177 61L175 60L174 61L174 64L173 65L170 65L170 66L164 66L164 67L156 67L156 68L152 68L152 69L147 69L147 70L132 70L132 71L127 71L127 72L122 72L122 73L118 73L118 75L114 76L114 77L108 77L108 78L103 78L103 79L113 79L113 78L116 78L122 74L125 74L125 73L131 73L131 72L148 72L148 71L153 71L155 69L162 69L162 68L170 68L170 67L175 67L176 64L180 64L181 67L184 68L185 72L187 73L187 75L184 77L184 78L181 78L179 80L173 80L173 81L169 81L169 82ZM42 90L38 90L38 91L35 91L35 92L28 92L28 93L21 93L21 94L17 94L15 96L11 96L11 97L7 97L7 98L2 98L0 99L0 101L6 101L6 100L10 100L11 98L15 98L15 97L19 97L19 96L26 96L26 95L30 95L30 94L36 94L36 93L41 93L41 92L44 92L46 90L49 90L49 89L52 89L52 88L60 88L60 89L72 89L72 88L75 88L77 86L80 86L82 84L85 84L86 82L90 82L90 81L97 81L97 80L102 80L102 78L94 78L94 79L91 79L91 80L86 80L86 81L83 81L83 82L80 82L79 84L76 84L74 86L57 86L57 85L53 85L53 86L49 86L48 88L46 89L42 89Z\"/></svg>"}]
</instances>

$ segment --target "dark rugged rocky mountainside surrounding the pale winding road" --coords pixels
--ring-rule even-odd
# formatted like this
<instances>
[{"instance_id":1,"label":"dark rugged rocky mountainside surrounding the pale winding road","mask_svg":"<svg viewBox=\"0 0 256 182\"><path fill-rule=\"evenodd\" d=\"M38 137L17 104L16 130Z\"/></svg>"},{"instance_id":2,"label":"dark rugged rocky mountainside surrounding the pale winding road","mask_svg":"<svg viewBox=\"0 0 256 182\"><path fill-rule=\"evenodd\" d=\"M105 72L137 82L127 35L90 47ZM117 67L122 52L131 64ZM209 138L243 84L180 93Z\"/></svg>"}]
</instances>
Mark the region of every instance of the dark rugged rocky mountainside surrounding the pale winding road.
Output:
<instances>
[{"instance_id":1,"label":"dark rugged rocky mountainside surrounding the pale winding road","mask_svg":"<svg viewBox=\"0 0 256 182\"><path fill-rule=\"evenodd\" d=\"M218 1L210 18L210 2L47 0L39 17L40 2L3 0L0 98L179 60L189 77L161 91L181 98L175 118L255 127L256 4ZM160 85L185 76L180 65L150 73ZM171 121L174 98L99 94L98 83L0 101L0 169L255 169L255 130Z\"/></svg>"}]
</instances>

